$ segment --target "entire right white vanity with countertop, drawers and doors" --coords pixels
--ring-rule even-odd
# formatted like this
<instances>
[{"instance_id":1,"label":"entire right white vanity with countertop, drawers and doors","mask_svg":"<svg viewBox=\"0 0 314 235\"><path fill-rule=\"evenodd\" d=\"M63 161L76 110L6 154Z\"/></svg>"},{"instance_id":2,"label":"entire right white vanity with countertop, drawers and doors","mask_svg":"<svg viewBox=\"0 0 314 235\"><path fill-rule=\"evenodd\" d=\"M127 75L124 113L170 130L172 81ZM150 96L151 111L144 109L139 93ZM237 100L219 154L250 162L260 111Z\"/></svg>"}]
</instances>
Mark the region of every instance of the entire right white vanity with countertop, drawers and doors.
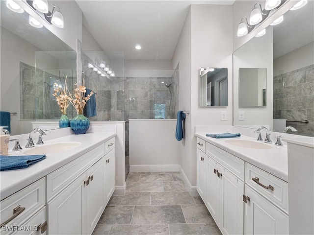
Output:
<instances>
[{"instance_id":1,"label":"entire right white vanity with countertop, drawers and doors","mask_svg":"<svg viewBox=\"0 0 314 235\"><path fill-rule=\"evenodd\" d=\"M215 129L207 133L222 133ZM196 127L197 191L222 234L289 234L287 145L201 131Z\"/></svg>"}]
</instances>

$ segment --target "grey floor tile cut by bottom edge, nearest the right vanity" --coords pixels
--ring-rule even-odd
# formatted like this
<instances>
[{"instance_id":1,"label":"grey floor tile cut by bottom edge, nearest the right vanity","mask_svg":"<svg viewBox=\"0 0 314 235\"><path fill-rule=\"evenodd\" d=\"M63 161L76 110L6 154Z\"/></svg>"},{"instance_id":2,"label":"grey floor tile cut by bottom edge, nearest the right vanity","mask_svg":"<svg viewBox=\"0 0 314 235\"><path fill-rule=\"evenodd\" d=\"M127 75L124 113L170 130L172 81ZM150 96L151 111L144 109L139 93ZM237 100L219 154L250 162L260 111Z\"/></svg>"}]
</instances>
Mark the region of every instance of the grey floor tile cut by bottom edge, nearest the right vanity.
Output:
<instances>
[{"instance_id":1,"label":"grey floor tile cut by bottom edge, nearest the right vanity","mask_svg":"<svg viewBox=\"0 0 314 235\"><path fill-rule=\"evenodd\" d=\"M169 224L171 235L221 235L216 224Z\"/></svg>"}]
</instances>

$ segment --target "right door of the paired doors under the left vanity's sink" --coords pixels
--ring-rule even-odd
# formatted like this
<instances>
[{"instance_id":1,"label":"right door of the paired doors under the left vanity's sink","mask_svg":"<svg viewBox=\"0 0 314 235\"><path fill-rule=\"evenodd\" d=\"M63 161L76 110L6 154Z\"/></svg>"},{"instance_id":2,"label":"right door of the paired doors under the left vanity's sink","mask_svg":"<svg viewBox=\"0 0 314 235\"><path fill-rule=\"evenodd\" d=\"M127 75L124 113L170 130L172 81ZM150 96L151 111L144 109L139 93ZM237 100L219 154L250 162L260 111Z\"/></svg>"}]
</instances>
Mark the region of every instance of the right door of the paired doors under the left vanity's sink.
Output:
<instances>
[{"instance_id":1,"label":"right door of the paired doors under the left vanity's sink","mask_svg":"<svg viewBox=\"0 0 314 235\"><path fill-rule=\"evenodd\" d=\"M87 176L87 228L91 234L105 209L104 160L99 160L87 170Z\"/></svg>"}]
</instances>

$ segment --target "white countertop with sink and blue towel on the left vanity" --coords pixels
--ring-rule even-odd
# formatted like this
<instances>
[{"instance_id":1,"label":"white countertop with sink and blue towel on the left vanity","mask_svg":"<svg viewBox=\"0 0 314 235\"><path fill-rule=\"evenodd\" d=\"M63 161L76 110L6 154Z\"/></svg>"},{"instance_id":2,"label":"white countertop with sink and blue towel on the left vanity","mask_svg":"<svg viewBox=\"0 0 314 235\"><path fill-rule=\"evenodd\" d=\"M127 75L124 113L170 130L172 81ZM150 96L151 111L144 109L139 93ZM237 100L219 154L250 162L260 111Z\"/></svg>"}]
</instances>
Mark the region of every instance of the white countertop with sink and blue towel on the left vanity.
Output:
<instances>
[{"instance_id":1,"label":"white countertop with sink and blue towel on the left vanity","mask_svg":"<svg viewBox=\"0 0 314 235\"><path fill-rule=\"evenodd\" d=\"M116 136L116 133L86 133L84 135L67 135L45 141L45 143L58 143L67 141L81 142L76 148L61 153L46 153L46 159L24 169L6 170L0 172L0 197L10 196L18 190L25 188L31 183L41 179L59 167L73 161L82 154L88 152L101 143ZM24 148L25 150L25 148ZM22 155L23 152L11 153L10 155Z\"/></svg>"}]
</instances>

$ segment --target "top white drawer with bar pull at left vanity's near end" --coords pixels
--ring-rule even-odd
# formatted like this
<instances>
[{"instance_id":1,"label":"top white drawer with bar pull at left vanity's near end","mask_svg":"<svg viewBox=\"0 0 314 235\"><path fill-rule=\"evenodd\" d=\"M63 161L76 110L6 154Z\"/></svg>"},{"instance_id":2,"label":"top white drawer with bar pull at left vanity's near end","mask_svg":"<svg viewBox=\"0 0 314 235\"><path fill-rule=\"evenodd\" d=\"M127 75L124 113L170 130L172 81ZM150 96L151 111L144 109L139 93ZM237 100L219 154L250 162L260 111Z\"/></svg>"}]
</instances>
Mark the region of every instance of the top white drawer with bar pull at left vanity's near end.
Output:
<instances>
[{"instance_id":1,"label":"top white drawer with bar pull at left vanity's near end","mask_svg":"<svg viewBox=\"0 0 314 235\"><path fill-rule=\"evenodd\" d=\"M44 207L45 203L45 178L42 178L0 202L1 225L10 218L12 220L5 223L6 226L18 225L32 213ZM1 231L1 234L7 233L8 231Z\"/></svg>"}]
</instances>

